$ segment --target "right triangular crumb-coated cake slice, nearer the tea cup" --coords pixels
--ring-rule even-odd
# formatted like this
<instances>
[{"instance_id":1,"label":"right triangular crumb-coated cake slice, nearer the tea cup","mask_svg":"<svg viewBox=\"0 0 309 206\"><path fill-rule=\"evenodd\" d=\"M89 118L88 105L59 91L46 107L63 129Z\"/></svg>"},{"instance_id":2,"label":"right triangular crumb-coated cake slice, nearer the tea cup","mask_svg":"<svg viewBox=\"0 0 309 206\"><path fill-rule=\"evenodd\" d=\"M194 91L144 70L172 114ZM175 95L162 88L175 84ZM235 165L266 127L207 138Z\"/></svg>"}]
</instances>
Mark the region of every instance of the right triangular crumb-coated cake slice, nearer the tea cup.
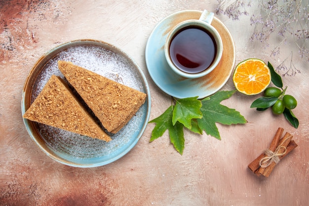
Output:
<instances>
[{"instance_id":1,"label":"right triangular crumb-coated cake slice, nearer the tea cup","mask_svg":"<svg viewBox=\"0 0 309 206\"><path fill-rule=\"evenodd\" d=\"M58 61L58 67L109 132L119 131L146 101L144 92L71 62Z\"/></svg>"}]
</instances>

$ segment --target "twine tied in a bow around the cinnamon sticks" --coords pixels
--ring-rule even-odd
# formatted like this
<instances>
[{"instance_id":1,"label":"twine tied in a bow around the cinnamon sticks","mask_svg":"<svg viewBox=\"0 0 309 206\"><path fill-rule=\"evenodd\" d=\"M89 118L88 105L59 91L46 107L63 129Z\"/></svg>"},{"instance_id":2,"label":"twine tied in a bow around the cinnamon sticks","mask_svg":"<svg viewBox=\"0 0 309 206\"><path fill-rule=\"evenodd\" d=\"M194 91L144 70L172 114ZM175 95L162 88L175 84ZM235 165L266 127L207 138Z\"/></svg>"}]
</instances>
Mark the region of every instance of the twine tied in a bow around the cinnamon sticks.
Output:
<instances>
[{"instance_id":1,"label":"twine tied in a bow around the cinnamon sticks","mask_svg":"<svg viewBox=\"0 0 309 206\"><path fill-rule=\"evenodd\" d=\"M287 141L289 138L286 138L277 148L274 152L267 149L263 153L265 154L265 157L260 160L260 166L265 168L269 165L271 165L272 162L275 164L278 164L280 161L280 156L284 155L286 153L286 147L282 146L282 144ZM282 151L282 152L281 152Z\"/></svg>"}]
</instances>

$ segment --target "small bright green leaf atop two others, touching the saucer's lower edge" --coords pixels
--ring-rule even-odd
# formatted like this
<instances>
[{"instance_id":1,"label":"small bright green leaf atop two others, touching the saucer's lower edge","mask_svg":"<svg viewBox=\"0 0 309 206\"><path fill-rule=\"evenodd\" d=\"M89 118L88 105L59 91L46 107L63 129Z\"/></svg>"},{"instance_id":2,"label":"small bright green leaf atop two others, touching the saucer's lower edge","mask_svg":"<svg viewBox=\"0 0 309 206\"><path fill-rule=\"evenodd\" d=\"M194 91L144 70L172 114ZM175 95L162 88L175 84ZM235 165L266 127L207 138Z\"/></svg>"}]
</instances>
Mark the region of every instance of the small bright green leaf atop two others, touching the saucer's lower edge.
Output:
<instances>
[{"instance_id":1,"label":"small bright green leaf atop two others, touching the saucer's lower edge","mask_svg":"<svg viewBox=\"0 0 309 206\"><path fill-rule=\"evenodd\" d=\"M173 125L178 121L184 124L185 127L191 129L191 120L202 118L201 106L202 103L197 99L197 96L176 100L173 111Z\"/></svg>"}]
</instances>

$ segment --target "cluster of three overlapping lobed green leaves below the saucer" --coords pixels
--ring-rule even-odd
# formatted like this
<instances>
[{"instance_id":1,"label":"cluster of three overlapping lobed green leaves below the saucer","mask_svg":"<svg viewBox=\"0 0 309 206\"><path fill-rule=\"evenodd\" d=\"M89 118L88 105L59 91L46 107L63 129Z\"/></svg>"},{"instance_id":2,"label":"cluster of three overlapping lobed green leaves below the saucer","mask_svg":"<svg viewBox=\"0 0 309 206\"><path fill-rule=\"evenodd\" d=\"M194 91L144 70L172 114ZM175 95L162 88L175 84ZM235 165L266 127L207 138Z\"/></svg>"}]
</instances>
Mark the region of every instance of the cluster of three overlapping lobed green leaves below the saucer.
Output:
<instances>
[{"instance_id":1,"label":"cluster of three overlapping lobed green leaves below the saucer","mask_svg":"<svg viewBox=\"0 0 309 206\"><path fill-rule=\"evenodd\" d=\"M216 122L221 124L244 124L247 121L239 112L230 109L220 102L228 99L235 92L219 91L203 100L190 97L176 100L175 107L171 105L162 115L150 121L155 123L150 142L154 141L168 130L170 142L182 155L185 148L184 126L198 134L202 131L221 139Z\"/></svg>"}]
</instances>

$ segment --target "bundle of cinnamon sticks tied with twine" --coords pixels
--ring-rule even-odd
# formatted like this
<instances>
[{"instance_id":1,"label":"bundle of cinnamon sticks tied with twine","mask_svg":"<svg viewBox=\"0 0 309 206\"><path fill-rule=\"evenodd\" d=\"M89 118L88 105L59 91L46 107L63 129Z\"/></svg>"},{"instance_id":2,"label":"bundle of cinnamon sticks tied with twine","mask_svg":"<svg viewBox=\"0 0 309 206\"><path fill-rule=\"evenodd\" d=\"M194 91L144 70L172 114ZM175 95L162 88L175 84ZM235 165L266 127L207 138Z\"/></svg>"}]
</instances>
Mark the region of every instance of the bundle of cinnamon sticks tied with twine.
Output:
<instances>
[{"instance_id":1,"label":"bundle of cinnamon sticks tied with twine","mask_svg":"<svg viewBox=\"0 0 309 206\"><path fill-rule=\"evenodd\" d=\"M283 128L279 127L270 143L269 149L265 150L248 165L249 169L256 175L269 177L274 166L298 146L292 140L293 135L288 132L281 138L283 130Z\"/></svg>"}]
</instances>

